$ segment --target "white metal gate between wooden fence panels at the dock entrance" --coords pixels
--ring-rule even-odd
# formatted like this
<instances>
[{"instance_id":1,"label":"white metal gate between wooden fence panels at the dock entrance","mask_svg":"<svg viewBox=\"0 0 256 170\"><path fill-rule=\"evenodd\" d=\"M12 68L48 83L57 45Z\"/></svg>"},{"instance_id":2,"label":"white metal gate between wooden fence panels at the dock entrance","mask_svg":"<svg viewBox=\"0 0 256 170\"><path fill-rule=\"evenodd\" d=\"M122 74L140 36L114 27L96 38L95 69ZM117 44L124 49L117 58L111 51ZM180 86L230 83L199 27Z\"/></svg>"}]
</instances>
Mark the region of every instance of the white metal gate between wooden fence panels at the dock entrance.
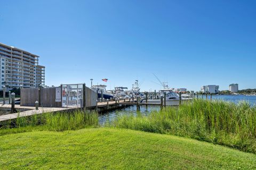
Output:
<instances>
[{"instance_id":1,"label":"white metal gate between wooden fence panels at the dock entrance","mask_svg":"<svg viewBox=\"0 0 256 170\"><path fill-rule=\"evenodd\" d=\"M83 84L62 84L62 107L83 107Z\"/></svg>"}]
</instances>

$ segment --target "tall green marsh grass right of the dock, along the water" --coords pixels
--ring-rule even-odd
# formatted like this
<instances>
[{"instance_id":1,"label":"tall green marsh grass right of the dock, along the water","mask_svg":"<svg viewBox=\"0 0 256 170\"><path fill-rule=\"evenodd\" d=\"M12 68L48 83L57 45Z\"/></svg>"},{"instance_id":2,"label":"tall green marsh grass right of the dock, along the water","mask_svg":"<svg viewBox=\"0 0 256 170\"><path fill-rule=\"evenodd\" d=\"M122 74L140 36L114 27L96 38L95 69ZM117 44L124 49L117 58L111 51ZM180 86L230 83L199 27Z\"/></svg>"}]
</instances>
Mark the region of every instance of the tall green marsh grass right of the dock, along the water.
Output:
<instances>
[{"instance_id":1,"label":"tall green marsh grass right of the dock, along the water","mask_svg":"<svg viewBox=\"0 0 256 170\"><path fill-rule=\"evenodd\" d=\"M248 103L195 99L148 116L118 116L109 125L190 137L256 153L256 107Z\"/></svg>"}]
</instances>

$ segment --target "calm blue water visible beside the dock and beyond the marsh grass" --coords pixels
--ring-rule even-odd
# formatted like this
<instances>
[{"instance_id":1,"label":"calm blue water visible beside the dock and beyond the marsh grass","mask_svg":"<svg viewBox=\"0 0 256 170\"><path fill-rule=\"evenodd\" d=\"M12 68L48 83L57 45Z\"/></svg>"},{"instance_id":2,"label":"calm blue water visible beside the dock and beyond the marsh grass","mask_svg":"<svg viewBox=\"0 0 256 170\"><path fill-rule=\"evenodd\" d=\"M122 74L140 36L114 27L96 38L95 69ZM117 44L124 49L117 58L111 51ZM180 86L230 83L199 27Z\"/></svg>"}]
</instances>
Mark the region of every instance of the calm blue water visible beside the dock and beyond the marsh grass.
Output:
<instances>
[{"instance_id":1,"label":"calm blue water visible beside the dock and beyond the marsh grass","mask_svg":"<svg viewBox=\"0 0 256 170\"><path fill-rule=\"evenodd\" d=\"M202 96L198 96L198 98L202 98ZM203 96L205 99L206 97ZM210 96L207 96L207 98L210 99ZM214 100L225 100L225 101L231 101L234 103L239 103L241 101L247 101L249 102L252 106L256 105L256 96L244 96L244 95L214 95L212 96L212 99ZM114 118L117 115L123 115L123 114L142 114L142 115L147 115L150 111L159 111L160 106L140 106L140 111L137 112L136 105L125 107L122 109L117 109L114 111L109 111L107 113L103 113L99 116L99 122L100 124L104 124L106 121L111 121L114 120Z\"/></svg>"}]
</instances>

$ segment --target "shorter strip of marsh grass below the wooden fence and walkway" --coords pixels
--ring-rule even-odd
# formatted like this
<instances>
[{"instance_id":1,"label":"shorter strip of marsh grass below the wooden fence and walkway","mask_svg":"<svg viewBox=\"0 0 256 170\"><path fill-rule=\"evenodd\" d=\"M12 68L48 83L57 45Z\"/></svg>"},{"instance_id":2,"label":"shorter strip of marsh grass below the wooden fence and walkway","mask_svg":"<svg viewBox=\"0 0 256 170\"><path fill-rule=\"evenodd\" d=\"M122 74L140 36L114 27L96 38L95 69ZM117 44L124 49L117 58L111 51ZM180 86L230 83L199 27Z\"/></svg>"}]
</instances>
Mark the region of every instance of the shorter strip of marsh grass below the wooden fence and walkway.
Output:
<instances>
[{"instance_id":1,"label":"shorter strip of marsh grass below the wooden fence and walkway","mask_svg":"<svg viewBox=\"0 0 256 170\"><path fill-rule=\"evenodd\" d=\"M5 122L0 135L6 133L27 132L32 130L65 131L98 126L98 113L94 111L74 111L70 113L43 113L27 117L18 117Z\"/></svg>"}]
</instances>

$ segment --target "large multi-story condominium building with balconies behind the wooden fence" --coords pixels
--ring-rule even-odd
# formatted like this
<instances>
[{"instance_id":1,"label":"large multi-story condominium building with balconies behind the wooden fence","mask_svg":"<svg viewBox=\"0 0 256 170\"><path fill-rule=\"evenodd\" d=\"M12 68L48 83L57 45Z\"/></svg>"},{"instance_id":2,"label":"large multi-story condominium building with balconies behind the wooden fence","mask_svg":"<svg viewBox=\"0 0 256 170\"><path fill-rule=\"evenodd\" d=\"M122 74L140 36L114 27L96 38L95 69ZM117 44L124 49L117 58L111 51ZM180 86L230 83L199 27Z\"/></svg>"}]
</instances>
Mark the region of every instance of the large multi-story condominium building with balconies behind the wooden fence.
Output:
<instances>
[{"instance_id":1,"label":"large multi-story condominium building with balconies behind the wooden fence","mask_svg":"<svg viewBox=\"0 0 256 170\"><path fill-rule=\"evenodd\" d=\"M45 67L38 65L39 56L0 43L0 90L4 86L31 88L45 83Z\"/></svg>"}]
</instances>

